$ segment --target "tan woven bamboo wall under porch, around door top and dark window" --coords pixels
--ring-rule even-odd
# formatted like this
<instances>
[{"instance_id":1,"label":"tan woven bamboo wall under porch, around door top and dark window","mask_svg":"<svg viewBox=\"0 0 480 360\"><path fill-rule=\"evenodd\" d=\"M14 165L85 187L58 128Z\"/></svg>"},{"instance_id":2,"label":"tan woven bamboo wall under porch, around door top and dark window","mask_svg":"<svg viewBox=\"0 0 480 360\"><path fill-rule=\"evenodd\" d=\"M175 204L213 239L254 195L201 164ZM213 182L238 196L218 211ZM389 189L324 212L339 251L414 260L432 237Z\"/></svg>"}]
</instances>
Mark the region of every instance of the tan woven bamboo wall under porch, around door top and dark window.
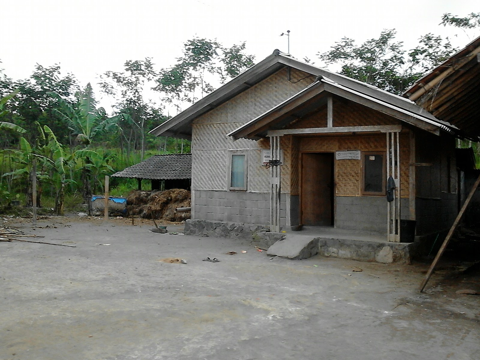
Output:
<instances>
[{"instance_id":1,"label":"tan woven bamboo wall under porch, around door top and dark window","mask_svg":"<svg viewBox=\"0 0 480 360\"><path fill-rule=\"evenodd\" d=\"M300 152L335 151L383 151L386 152L386 135L323 136L300 138ZM337 196L361 195L361 160L335 160ZM298 173L298 169L297 169ZM400 196L408 197L409 139L400 135ZM292 179L298 175L292 174Z\"/></svg>"}]
</instances>

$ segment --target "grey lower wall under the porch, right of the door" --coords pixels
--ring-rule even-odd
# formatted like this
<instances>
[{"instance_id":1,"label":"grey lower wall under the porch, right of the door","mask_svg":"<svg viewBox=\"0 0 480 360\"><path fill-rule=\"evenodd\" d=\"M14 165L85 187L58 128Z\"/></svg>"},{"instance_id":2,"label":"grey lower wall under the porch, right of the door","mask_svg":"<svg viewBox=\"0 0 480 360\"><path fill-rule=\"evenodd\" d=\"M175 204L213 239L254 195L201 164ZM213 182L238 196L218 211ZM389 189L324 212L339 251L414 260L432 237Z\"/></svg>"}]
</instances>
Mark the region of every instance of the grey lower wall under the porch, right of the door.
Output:
<instances>
[{"instance_id":1,"label":"grey lower wall under the porch, right of the door","mask_svg":"<svg viewBox=\"0 0 480 360\"><path fill-rule=\"evenodd\" d=\"M408 199L400 201L400 218L408 219ZM387 232L385 196L336 196L335 227Z\"/></svg>"}]
</instances>

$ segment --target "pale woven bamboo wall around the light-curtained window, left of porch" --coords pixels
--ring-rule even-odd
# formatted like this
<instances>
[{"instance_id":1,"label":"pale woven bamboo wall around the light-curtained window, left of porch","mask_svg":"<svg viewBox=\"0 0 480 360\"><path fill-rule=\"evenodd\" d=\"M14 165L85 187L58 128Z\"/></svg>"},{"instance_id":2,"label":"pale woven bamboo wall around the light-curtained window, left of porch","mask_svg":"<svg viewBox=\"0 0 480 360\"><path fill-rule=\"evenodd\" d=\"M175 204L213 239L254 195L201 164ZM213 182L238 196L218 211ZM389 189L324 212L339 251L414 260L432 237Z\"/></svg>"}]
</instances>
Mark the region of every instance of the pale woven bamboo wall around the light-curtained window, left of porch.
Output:
<instances>
[{"instance_id":1,"label":"pale woven bamboo wall around the light-curtained window, left of porch","mask_svg":"<svg viewBox=\"0 0 480 360\"><path fill-rule=\"evenodd\" d=\"M192 125L192 189L228 190L228 150L248 149L248 191L268 192L270 170L261 165L264 144L253 140L233 139L227 134L314 81L306 72L282 69L259 84L252 86L228 102L219 105L193 121ZM284 162L282 189L290 188L290 145L282 139Z\"/></svg>"}]
</instances>

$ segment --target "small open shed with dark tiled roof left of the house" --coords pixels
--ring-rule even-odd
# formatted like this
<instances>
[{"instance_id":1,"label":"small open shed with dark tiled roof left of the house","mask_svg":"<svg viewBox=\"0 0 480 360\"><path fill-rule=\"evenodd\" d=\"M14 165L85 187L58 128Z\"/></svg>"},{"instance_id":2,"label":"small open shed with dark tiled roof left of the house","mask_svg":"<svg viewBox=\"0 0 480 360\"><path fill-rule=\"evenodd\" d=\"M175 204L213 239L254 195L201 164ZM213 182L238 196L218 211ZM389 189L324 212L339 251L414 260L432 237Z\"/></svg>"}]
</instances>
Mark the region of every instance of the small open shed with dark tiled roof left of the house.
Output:
<instances>
[{"instance_id":1,"label":"small open shed with dark tiled roof left of the house","mask_svg":"<svg viewBox=\"0 0 480 360\"><path fill-rule=\"evenodd\" d=\"M138 190L142 190L144 179L151 181L152 190L190 190L192 154L154 155L112 176L137 179Z\"/></svg>"}]
</instances>

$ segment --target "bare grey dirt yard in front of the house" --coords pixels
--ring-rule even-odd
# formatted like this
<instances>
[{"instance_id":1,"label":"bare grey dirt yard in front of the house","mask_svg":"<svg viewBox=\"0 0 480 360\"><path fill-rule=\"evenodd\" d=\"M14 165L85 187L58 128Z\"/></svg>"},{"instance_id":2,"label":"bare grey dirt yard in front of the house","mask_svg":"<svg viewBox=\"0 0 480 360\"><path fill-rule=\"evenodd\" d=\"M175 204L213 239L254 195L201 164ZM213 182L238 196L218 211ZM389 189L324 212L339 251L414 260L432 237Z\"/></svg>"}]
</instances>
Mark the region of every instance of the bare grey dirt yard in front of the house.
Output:
<instances>
[{"instance_id":1,"label":"bare grey dirt yard in front of the house","mask_svg":"<svg viewBox=\"0 0 480 360\"><path fill-rule=\"evenodd\" d=\"M1 222L76 246L0 242L2 360L480 359L480 296L456 293L479 275L449 263L420 294L427 263L271 258L148 220Z\"/></svg>"}]
</instances>

